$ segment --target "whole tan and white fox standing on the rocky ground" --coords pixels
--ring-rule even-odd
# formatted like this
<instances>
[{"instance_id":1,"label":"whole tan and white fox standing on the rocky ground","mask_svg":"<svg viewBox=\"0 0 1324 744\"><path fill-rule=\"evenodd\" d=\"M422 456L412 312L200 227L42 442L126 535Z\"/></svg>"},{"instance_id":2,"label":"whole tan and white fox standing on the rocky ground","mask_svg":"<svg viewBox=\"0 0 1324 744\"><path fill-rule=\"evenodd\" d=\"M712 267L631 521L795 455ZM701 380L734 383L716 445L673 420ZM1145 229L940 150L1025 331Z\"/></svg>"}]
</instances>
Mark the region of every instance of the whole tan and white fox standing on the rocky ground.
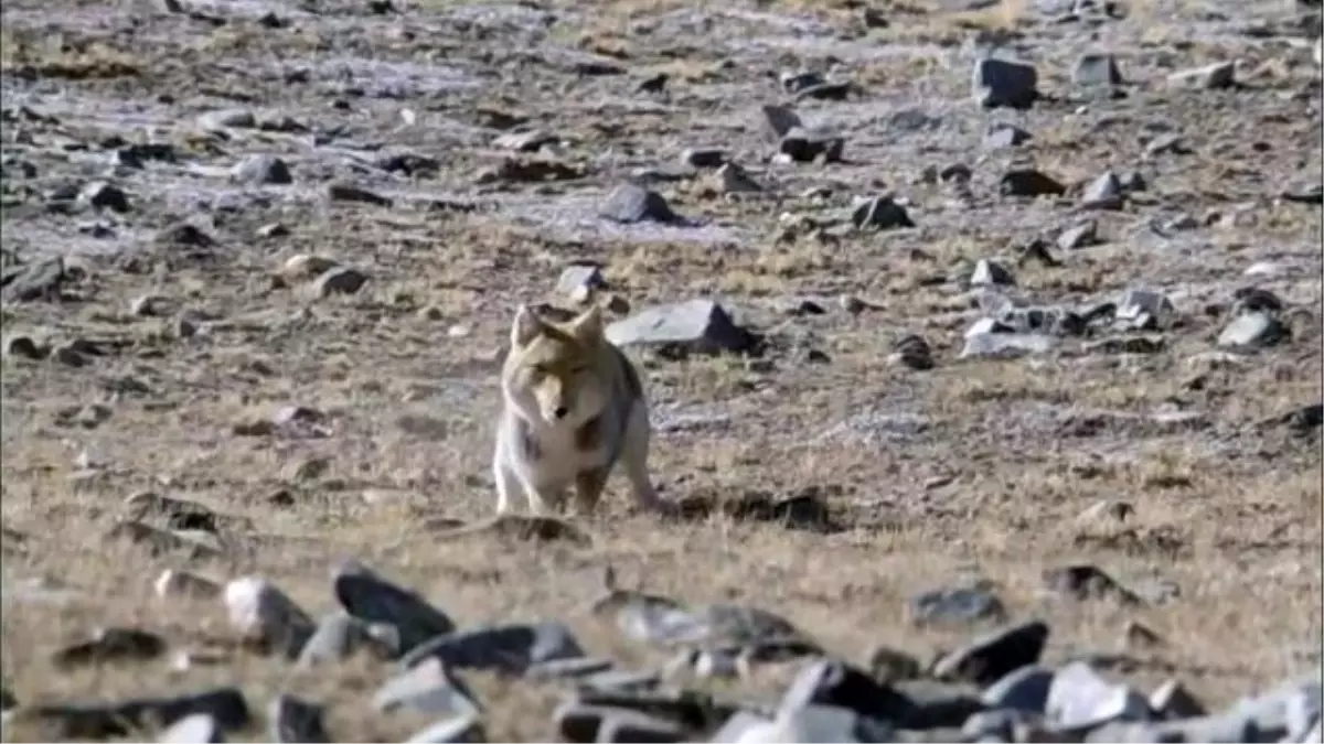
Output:
<instances>
[{"instance_id":1,"label":"whole tan and white fox standing on the rocky ground","mask_svg":"<svg viewBox=\"0 0 1324 744\"><path fill-rule=\"evenodd\" d=\"M602 331L597 306L565 323L527 306L516 311L493 457L498 514L511 508L516 490L535 514L560 507L571 485L587 514L617 459L636 502L663 510L647 471L650 425L638 372Z\"/></svg>"}]
</instances>

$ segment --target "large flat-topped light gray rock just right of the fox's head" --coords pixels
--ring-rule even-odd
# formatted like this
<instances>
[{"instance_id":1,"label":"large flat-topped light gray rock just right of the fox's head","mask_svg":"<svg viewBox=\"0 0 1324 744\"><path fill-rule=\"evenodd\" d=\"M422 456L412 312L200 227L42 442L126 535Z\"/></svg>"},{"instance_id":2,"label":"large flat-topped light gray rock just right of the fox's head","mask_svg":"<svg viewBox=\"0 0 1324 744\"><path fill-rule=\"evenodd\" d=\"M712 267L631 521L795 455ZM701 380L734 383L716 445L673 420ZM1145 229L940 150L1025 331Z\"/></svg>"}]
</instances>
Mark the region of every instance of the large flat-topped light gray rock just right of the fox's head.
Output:
<instances>
[{"instance_id":1,"label":"large flat-topped light gray rock just right of the fox's head","mask_svg":"<svg viewBox=\"0 0 1324 744\"><path fill-rule=\"evenodd\" d=\"M670 347L696 353L739 353L753 346L749 332L710 299L643 308L609 324L606 338L620 347Z\"/></svg>"}]
</instances>

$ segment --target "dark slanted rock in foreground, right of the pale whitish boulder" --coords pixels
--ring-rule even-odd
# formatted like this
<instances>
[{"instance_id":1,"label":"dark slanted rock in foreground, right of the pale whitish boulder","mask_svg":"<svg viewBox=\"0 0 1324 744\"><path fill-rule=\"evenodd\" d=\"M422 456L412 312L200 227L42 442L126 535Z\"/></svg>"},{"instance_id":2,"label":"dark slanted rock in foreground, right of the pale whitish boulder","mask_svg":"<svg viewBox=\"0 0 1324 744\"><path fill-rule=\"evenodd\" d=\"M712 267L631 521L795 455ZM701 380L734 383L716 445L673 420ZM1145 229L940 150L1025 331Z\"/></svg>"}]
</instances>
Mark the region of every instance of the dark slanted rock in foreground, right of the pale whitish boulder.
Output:
<instances>
[{"instance_id":1,"label":"dark slanted rock in foreground, right of the pale whitish boulder","mask_svg":"<svg viewBox=\"0 0 1324 744\"><path fill-rule=\"evenodd\" d=\"M352 617L399 630L401 654L455 629L450 617L416 592L387 581L357 561L343 563L334 582L336 600Z\"/></svg>"}]
</instances>

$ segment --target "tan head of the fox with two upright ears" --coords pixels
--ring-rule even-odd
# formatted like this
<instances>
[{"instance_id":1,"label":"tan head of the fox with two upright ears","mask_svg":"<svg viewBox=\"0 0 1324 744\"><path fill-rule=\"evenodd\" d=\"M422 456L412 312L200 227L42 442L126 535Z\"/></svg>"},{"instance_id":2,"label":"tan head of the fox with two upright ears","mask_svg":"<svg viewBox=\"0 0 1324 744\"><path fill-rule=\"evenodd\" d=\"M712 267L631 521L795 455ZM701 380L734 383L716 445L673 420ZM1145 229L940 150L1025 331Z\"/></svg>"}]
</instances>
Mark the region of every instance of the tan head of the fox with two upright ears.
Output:
<instances>
[{"instance_id":1,"label":"tan head of the fox with two upright ears","mask_svg":"<svg viewBox=\"0 0 1324 744\"><path fill-rule=\"evenodd\" d=\"M602 312L597 306L567 323L520 306L510 328L503 388L527 418L580 426L606 406L612 380L601 364Z\"/></svg>"}]
</instances>

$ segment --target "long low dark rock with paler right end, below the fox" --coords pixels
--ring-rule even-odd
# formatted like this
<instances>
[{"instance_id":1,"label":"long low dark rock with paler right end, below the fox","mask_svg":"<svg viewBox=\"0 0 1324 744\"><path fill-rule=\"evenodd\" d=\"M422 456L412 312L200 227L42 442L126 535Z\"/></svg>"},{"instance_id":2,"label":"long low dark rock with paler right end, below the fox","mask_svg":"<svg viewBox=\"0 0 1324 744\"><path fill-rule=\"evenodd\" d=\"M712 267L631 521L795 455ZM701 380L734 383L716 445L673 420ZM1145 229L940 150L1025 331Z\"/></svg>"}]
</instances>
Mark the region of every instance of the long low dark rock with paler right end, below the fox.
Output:
<instances>
[{"instance_id":1,"label":"long low dark rock with paler right end, below the fox","mask_svg":"<svg viewBox=\"0 0 1324 744\"><path fill-rule=\"evenodd\" d=\"M544 621L449 633L414 647L405 654L401 665L413 667L436 657L448 669L494 670L522 675L534 665L583 655L584 650L569 628L560 622Z\"/></svg>"}]
</instances>

